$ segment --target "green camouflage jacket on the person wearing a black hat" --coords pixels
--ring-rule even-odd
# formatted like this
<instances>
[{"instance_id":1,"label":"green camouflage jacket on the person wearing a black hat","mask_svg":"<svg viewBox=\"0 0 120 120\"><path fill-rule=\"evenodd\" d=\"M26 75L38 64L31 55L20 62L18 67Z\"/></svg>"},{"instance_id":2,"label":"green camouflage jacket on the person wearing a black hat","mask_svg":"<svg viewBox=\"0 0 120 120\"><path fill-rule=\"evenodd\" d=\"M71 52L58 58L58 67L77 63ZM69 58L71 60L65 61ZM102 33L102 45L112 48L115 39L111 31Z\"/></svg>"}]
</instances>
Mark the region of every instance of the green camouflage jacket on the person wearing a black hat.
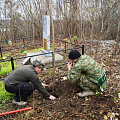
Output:
<instances>
[{"instance_id":1,"label":"green camouflage jacket on the person wearing a black hat","mask_svg":"<svg viewBox=\"0 0 120 120\"><path fill-rule=\"evenodd\" d=\"M82 74L84 74L88 80L98 84L101 91L108 85L105 71L102 69L102 66L87 55L82 55L78 58L74 68L68 71L70 83L79 83Z\"/></svg>"}]
</instances>

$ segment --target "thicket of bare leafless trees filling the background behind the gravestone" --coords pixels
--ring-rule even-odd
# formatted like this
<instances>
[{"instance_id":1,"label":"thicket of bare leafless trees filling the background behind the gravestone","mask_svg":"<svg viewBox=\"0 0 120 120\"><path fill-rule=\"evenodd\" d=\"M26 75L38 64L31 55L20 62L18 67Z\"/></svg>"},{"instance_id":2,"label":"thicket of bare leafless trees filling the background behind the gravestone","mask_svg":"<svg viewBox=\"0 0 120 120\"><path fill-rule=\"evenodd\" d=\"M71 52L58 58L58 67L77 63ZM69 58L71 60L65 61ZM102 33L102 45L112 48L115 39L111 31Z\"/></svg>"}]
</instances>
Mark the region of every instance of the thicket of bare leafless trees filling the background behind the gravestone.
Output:
<instances>
[{"instance_id":1,"label":"thicket of bare leafless trees filling the background behind the gravestone","mask_svg":"<svg viewBox=\"0 0 120 120\"><path fill-rule=\"evenodd\" d=\"M6 22L0 27L6 31L1 32L2 39L42 35L42 16L50 15L49 0L4 1L1 14ZM52 0L55 37L119 39L119 3L120 0ZM90 53L92 44L91 41Z\"/></svg>"}]
</instances>

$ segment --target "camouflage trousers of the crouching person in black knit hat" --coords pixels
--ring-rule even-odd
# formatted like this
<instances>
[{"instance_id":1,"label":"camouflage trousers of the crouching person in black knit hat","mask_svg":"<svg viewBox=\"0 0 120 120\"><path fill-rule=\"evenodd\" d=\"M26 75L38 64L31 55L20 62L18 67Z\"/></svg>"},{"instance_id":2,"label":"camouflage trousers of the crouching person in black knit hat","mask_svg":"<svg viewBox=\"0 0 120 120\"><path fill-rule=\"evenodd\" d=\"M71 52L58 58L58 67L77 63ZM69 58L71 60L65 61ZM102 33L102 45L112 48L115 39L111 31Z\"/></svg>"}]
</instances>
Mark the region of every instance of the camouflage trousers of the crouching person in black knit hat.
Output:
<instances>
[{"instance_id":1,"label":"camouflage trousers of the crouching person in black knit hat","mask_svg":"<svg viewBox=\"0 0 120 120\"><path fill-rule=\"evenodd\" d=\"M85 76L85 74L81 75L81 78L80 78L78 85L85 91L87 91L87 90L93 90L93 91L99 90L98 84L92 82L92 78L87 78Z\"/></svg>"}]
</instances>

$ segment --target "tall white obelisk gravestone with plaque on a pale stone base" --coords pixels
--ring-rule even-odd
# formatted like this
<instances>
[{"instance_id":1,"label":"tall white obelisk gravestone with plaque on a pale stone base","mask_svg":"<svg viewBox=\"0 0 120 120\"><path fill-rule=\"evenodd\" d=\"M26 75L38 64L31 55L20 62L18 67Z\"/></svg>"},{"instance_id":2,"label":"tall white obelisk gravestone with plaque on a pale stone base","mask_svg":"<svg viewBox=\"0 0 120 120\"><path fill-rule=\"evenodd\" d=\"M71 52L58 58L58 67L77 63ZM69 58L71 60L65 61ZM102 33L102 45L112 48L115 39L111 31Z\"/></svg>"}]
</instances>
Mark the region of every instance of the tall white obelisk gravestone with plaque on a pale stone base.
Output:
<instances>
[{"instance_id":1,"label":"tall white obelisk gravestone with plaque on a pale stone base","mask_svg":"<svg viewBox=\"0 0 120 120\"><path fill-rule=\"evenodd\" d=\"M42 55L34 56L38 54L42 54ZM29 59L29 56L34 56L34 57L30 57ZM38 60L44 64L49 64L53 62L52 53L50 53L50 16L48 15L43 16L43 49L42 51L27 53L27 57L28 58L26 58L23 61L24 64L29 62L29 60L31 63L33 63L33 61L35 60ZM62 55L55 53L55 62L62 61L63 59L64 57Z\"/></svg>"}]
</instances>

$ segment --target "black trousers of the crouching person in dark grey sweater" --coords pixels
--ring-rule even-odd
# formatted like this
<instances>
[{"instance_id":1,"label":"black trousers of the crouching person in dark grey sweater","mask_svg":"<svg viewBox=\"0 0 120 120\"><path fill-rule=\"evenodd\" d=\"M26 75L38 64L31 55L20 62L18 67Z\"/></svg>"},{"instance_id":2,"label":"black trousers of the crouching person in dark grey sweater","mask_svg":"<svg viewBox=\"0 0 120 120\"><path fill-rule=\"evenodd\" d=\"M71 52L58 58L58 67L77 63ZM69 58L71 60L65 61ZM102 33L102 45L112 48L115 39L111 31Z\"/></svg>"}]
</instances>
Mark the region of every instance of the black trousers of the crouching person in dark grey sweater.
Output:
<instances>
[{"instance_id":1,"label":"black trousers of the crouching person in dark grey sweater","mask_svg":"<svg viewBox=\"0 0 120 120\"><path fill-rule=\"evenodd\" d=\"M35 85L32 83L20 83L14 86L5 85L5 89L9 93L15 93L15 100L20 102L27 100L27 97L35 90Z\"/></svg>"}]
</instances>

